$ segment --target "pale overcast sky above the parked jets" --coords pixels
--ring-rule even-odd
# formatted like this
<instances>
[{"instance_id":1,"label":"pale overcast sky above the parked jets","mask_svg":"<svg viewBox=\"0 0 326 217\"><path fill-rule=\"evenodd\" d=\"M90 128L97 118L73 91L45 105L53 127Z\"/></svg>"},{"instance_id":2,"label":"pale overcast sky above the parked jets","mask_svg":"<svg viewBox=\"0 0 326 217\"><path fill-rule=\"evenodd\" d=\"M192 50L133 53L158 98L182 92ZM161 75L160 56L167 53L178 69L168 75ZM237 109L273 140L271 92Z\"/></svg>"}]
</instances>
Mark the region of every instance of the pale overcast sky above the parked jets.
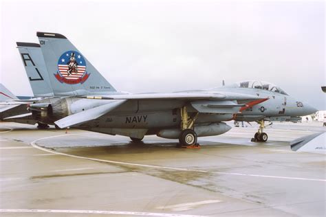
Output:
<instances>
[{"instance_id":1,"label":"pale overcast sky above the parked jets","mask_svg":"<svg viewBox=\"0 0 326 217\"><path fill-rule=\"evenodd\" d=\"M324 1L1 1L0 82L32 90L16 41L69 38L120 91L265 80L326 110Z\"/></svg>"}]
</instances>

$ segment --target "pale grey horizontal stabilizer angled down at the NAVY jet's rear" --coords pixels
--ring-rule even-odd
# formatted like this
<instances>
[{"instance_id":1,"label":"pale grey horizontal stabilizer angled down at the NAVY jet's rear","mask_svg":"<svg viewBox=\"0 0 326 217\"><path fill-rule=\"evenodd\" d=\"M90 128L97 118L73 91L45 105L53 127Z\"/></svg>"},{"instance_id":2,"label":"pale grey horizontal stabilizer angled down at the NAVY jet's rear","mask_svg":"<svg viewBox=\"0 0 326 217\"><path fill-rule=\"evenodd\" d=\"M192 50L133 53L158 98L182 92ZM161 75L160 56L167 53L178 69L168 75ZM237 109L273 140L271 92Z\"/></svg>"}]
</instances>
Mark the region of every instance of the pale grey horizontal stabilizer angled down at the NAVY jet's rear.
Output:
<instances>
[{"instance_id":1,"label":"pale grey horizontal stabilizer angled down at the NAVY jet's rear","mask_svg":"<svg viewBox=\"0 0 326 217\"><path fill-rule=\"evenodd\" d=\"M108 104L104 104L93 109L88 109L86 111L82 111L74 115L69 115L67 117L64 117L63 119L59 119L58 121L54 122L54 124L56 124L60 128L83 124L85 122L89 122L93 119L101 117L106 113L109 113L109 111L116 109L124 102L125 100L115 100L113 102L109 102Z\"/></svg>"}]
</instances>

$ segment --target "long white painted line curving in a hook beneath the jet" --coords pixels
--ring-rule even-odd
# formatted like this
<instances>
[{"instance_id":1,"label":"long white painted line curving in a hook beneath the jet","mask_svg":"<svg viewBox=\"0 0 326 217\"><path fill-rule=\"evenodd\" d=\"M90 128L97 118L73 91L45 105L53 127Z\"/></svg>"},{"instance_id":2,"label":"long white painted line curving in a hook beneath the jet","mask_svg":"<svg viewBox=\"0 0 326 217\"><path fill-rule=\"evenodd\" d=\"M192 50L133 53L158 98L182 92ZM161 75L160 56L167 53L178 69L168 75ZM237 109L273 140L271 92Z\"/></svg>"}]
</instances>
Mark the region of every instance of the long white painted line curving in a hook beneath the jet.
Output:
<instances>
[{"instance_id":1,"label":"long white painted line curving in a hook beneath the jet","mask_svg":"<svg viewBox=\"0 0 326 217\"><path fill-rule=\"evenodd\" d=\"M139 166L139 167L144 167L144 168L156 168L156 169L177 170L177 171L187 171L187 172L204 172L204 173L211 173L211 174L225 174L225 175L235 175L235 176L252 176L252 177L273 178L273 179L290 179L290 180L301 180L301 181L323 181L323 182L326 182L326 179L309 179L309 178L287 177L287 176L268 176L268 175L259 175L259 174L244 174L244 173L237 173L237 172L215 172L215 171L207 171L207 170L193 170L193 169L187 169L187 168L172 168L172 167L161 166L161 165L147 165L147 164L140 164L140 163L127 163L127 162L122 162L122 161L110 161L110 160L96 159L96 158L91 158L91 157L69 155L69 154L62 153L62 152L55 152L54 150L48 150L47 148L43 148L43 147L36 145L36 141L40 141L43 139L51 139L54 137L69 136L69 135L76 135L76 134L65 134L65 135L55 135L52 137L43 137L43 138L36 139L36 140L32 141L30 144L34 148L38 148L39 150L43 150L45 152L50 152L50 153L57 154L57 155L63 155L63 156L67 156L67 157L75 157L77 159L87 159L87 160L91 160L91 161L120 164L120 165L133 165L133 166Z\"/></svg>"}]
</instances>

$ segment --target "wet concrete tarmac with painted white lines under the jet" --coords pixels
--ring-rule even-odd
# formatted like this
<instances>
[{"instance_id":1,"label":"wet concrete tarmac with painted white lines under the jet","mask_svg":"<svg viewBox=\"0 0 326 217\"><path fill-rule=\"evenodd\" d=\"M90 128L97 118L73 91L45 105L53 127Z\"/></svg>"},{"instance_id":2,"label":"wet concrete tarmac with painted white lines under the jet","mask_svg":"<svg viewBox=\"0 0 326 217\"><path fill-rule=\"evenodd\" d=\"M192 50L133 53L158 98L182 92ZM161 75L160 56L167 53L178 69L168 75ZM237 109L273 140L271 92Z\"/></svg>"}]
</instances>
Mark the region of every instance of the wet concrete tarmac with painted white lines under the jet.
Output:
<instances>
[{"instance_id":1,"label":"wet concrete tarmac with painted white lines under the jet","mask_svg":"<svg viewBox=\"0 0 326 217\"><path fill-rule=\"evenodd\" d=\"M326 216L326 155L289 145L321 124L273 124L266 143L247 124L186 149L1 122L0 216Z\"/></svg>"}]
</instances>

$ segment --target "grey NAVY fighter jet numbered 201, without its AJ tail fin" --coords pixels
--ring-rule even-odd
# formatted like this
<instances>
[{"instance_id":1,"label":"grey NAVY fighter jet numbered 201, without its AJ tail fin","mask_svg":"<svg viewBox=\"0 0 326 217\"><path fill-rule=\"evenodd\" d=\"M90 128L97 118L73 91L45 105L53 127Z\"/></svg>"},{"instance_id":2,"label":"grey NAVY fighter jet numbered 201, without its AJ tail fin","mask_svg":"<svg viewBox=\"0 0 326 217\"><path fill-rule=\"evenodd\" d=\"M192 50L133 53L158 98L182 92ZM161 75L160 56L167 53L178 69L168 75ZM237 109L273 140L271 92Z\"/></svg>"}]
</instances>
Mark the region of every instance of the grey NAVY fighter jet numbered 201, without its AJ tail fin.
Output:
<instances>
[{"instance_id":1,"label":"grey NAVY fighter jet numbered 201, without its AJ tail fin","mask_svg":"<svg viewBox=\"0 0 326 217\"><path fill-rule=\"evenodd\" d=\"M270 86L259 88L258 83L250 88L248 83L248 87L178 93L122 93L65 36L45 32L37 32L37 36L54 95L62 97L55 102L31 104L30 109L39 111L43 115L37 117L46 118L59 128L124 135L133 141L141 141L144 135L157 135L179 139L182 146L195 146L197 137L230 130L224 121L242 118L263 123L267 118L291 120L314 112L307 104L298 104L298 100ZM266 141L268 137L262 129L263 124L255 137Z\"/></svg>"}]
</instances>

